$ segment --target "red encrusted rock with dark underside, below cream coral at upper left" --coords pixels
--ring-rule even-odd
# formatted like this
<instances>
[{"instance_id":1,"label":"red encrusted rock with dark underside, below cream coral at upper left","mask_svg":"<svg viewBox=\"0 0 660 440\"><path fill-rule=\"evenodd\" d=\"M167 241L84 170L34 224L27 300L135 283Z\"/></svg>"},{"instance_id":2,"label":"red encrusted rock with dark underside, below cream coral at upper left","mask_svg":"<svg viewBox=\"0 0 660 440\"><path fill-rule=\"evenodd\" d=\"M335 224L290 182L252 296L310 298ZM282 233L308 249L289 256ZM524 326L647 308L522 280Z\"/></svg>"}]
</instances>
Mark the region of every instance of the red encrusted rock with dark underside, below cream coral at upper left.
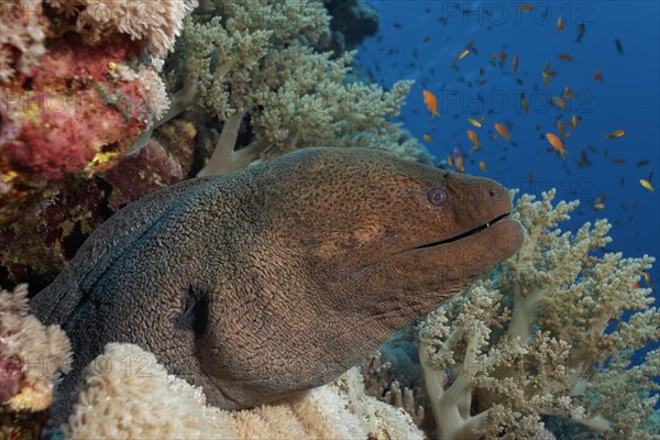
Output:
<instances>
[{"instance_id":1,"label":"red encrusted rock with dark underside, below cream coral at upper left","mask_svg":"<svg viewBox=\"0 0 660 440\"><path fill-rule=\"evenodd\" d=\"M102 176L114 169L113 183L130 185L138 172L129 166L124 176L117 166L164 110L144 42L47 35L38 62L0 89L0 265L13 282L47 282L112 213L107 201L117 191ZM175 165L145 169L162 185L123 201L187 175Z\"/></svg>"}]
</instances>

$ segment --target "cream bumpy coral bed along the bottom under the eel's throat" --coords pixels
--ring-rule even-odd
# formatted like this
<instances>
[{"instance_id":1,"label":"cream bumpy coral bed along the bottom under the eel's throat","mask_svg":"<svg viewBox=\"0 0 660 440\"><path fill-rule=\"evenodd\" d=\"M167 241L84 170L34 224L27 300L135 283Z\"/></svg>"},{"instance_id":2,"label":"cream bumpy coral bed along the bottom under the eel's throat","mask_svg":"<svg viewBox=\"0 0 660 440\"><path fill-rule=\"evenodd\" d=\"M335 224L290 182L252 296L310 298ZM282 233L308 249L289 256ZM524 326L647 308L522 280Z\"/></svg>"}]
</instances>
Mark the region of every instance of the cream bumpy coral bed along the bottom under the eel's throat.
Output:
<instances>
[{"instance_id":1,"label":"cream bumpy coral bed along the bottom under the eel's throat","mask_svg":"<svg viewBox=\"0 0 660 440\"><path fill-rule=\"evenodd\" d=\"M108 344L88 367L75 414L63 429L72 439L366 439L370 432L422 438L400 408L364 395L358 370L304 395L229 413L207 406L200 388L168 376L153 354L118 343Z\"/></svg>"}]
</instances>

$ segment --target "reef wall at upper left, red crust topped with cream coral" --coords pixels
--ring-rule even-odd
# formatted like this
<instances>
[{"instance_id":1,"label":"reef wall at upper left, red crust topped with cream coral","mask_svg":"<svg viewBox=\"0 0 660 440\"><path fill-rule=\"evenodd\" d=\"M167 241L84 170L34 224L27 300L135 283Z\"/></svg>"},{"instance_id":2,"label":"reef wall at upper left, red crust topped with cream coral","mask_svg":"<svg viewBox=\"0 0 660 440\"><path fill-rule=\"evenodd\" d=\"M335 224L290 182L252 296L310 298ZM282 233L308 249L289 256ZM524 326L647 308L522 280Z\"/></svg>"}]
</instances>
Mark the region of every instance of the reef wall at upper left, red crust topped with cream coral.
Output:
<instances>
[{"instance_id":1,"label":"reef wall at upper left, red crust topped with cream coral","mask_svg":"<svg viewBox=\"0 0 660 440\"><path fill-rule=\"evenodd\" d=\"M105 173L124 165L127 150L169 106L162 62L145 54L166 55L195 6L190 0L2 1L4 276L47 283L111 213L105 205L112 184L129 184L117 170L109 184ZM143 158L142 166L150 176L160 174L162 186L187 174L164 167L157 155L154 163ZM127 169L131 182L132 169Z\"/></svg>"}]
</instances>

